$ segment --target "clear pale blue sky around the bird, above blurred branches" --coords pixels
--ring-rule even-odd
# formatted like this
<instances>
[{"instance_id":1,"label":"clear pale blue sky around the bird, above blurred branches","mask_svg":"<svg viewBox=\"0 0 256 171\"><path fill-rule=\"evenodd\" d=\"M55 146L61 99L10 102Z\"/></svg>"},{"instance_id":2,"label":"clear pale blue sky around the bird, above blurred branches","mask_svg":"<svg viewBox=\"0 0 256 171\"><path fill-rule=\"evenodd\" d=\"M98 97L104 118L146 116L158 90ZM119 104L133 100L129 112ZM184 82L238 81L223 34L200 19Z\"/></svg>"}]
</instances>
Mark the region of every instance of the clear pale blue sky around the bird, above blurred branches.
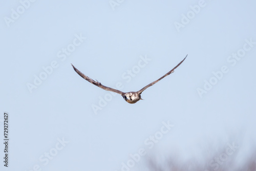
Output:
<instances>
[{"instance_id":1,"label":"clear pale blue sky around the bird, above blurred branches","mask_svg":"<svg viewBox=\"0 0 256 171\"><path fill-rule=\"evenodd\" d=\"M243 52L246 39L256 42L255 1L206 0L179 31L175 22L200 1L119 1L114 10L109 1L35 1L27 9L24 1L0 5L0 127L2 133L6 111L9 170L36 165L42 170L121 170L141 147L152 155L175 152L181 160L200 158L215 143L239 144L240 161L250 153L256 135L255 43L245 46L250 50L236 65L227 59ZM25 10L8 27L6 17L17 8ZM58 58L76 35L86 39L65 60ZM129 104L116 95L97 115L92 106L108 92L83 80L70 65L105 86L121 82L122 91L129 92L158 79L186 54L173 74L142 93L144 100ZM126 82L122 74L145 55L151 60ZM58 67L30 93L27 83L33 84L34 75L53 61ZM223 66L228 72L200 97L197 89ZM168 120L174 127L149 149L144 141ZM40 156L56 152L58 138L69 143L46 164ZM2 160L1 170L7 170ZM144 160L131 170L145 168Z\"/></svg>"}]
</instances>

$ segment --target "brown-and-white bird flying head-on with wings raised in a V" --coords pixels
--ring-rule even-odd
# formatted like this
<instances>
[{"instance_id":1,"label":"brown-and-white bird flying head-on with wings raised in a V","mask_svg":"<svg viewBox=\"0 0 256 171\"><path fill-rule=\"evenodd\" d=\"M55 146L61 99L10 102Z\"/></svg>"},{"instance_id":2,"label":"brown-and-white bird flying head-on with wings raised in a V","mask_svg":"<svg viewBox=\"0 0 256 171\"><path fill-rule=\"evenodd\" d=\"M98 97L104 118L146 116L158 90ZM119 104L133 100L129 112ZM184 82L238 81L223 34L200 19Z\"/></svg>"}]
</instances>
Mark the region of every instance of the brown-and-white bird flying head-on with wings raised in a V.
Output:
<instances>
[{"instance_id":1,"label":"brown-and-white bird flying head-on with wings raised in a V","mask_svg":"<svg viewBox=\"0 0 256 171\"><path fill-rule=\"evenodd\" d=\"M187 55L186 55L187 57ZM111 91L111 92L115 92L120 94L123 99L129 103L136 103L137 101L139 101L141 98L141 93L146 90L147 88L153 86L155 83L157 83L158 81L160 81L161 79L163 79L164 77L166 77L167 75L170 75L174 72L174 70L179 67L181 65L181 63L186 59L186 57L176 66L174 67L172 70L170 70L169 72L167 72L164 76L162 76L161 78L159 78L158 80L151 82L150 84L148 84L147 86L143 87L141 90L137 91L137 92L121 92L119 90L116 89L112 89L110 87L106 87L103 84L101 84L100 82L98 82L97 80L93 80L92 78L89 78L88 76L84 75L83 73L81 73L79 70L77 70L71 63L72 67L74 68L75 72L77 74L79 74L82 78L86 79L87 81L91 82L92 84L94 84L95 86L98 86L101 89L104 89L106 91ZM142 99L143 100L143 99Z\"/></svg>"}]
</instances>

